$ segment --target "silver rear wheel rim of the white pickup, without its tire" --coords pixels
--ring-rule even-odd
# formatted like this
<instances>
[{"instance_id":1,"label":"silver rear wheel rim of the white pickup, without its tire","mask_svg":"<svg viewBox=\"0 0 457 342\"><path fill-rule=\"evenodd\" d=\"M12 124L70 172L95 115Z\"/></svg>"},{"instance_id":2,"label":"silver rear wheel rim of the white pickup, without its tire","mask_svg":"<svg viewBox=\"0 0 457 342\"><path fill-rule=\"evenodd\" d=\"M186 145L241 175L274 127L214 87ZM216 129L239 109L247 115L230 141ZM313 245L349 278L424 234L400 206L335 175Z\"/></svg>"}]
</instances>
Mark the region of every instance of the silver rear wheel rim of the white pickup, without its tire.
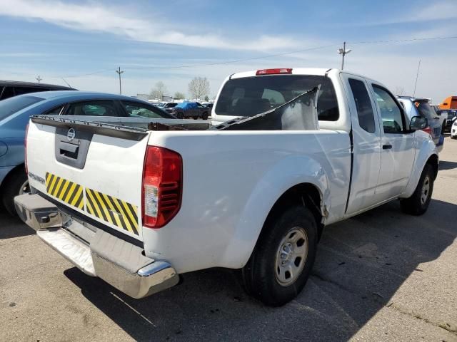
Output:
<instances>
[{"instance_id":1,"label":"silver rear wheel rim of the white pickup, without its tire","mask_svg":"<svg viewBox=\"0 0 457 342\"><path fill-rule=\"evenodd\" d=\"M289 286L298 279L308 257L308 235L305 229L293 227L279 244L276 252L275 276L281 286Z\"/></svg>"}]
</instances>

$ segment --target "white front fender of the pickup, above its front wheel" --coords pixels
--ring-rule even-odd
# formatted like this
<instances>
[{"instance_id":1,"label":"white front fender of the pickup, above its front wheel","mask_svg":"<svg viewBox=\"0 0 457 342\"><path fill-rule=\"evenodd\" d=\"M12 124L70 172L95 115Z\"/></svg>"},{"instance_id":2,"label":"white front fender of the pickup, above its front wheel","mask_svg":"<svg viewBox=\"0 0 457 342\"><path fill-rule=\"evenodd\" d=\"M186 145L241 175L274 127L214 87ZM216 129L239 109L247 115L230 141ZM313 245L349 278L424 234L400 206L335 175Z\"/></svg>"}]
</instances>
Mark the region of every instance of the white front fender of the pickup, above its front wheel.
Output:
<instances>
[{"instance_id":1,"label":"white front fender of the pickup, above its front wheel","mask_svg":"<svg viewBox=\"0 0 457 342\"><path fill-rule=\"evenodd\" d=\"M423 167L426 165L427 160L432 156L436 155L438 157L438 150L436 150L436 145L430 138L425 138L423 135L417 135L417 147L416 147L416 160L414 162L413 171L411 172L411 177L409 177L408 185L400 198L408 198L413 195L414 190L421 178ZM425 139L424 139L425 138Z\"/></svg>"}]
</instances>

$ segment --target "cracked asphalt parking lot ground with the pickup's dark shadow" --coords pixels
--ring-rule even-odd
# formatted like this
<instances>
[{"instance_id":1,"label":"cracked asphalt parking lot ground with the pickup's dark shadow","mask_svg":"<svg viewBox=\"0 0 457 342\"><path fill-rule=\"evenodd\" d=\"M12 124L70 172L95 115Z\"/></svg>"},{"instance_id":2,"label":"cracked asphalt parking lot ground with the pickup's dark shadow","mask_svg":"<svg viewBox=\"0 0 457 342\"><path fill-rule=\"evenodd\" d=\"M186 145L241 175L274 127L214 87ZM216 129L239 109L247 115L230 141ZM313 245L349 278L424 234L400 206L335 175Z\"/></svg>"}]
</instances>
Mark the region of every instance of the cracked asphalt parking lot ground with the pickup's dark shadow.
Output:
<instances>
[{"instance_id":1,"label":"cracked asphalt parking lot ground with the pickup's dark shadow","mask_svg":"<svg viewBox=\"0 0 457 342\"><path fill-rule=\"evenodd\" d=\"M211 269L134 300L0 213L0 341L457 341L457 140L422 217L398 202L327 227L313 276L263 306Z\"/></svg>"}]
</instances>

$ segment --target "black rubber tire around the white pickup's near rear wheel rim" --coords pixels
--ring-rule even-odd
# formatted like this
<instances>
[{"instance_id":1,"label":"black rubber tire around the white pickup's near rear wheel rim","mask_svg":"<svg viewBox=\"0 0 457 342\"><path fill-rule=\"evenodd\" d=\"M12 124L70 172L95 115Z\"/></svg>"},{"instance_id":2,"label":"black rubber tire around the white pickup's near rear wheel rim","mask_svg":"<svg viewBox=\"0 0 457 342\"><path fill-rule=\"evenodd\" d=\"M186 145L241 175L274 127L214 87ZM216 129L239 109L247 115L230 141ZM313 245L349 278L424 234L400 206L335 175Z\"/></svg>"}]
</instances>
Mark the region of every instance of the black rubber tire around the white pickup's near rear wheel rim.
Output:
<instances>
[{"instance_id":1,"label":"black rubber tire around the white pickup's near rear wheel rim","mask_svg":"<svg viewBox=\"0 0 457 342\"><path fill-rule=\"evenodd\" d=\"M297 271L297 276L290 279L293 282L281 284L281 280L279 280L281 276L278 276L279 266L276 262L284 261L289 265L292 262L297 266L298 257L295 257L297 259L292 257L287 261L278 259L281 251L284 250L282 248L284 239L288 239L297 229L299 234L306 233L308 251L306 257L298 261L301 270ZM316 219L305 207L290 207L277 217L267 219L251 258L241 270L243 285L248 294L268 306L281 306L294 299L303 289L311 274L316 257L317 238ZM296 247L298 242L299 240L296 242ZM302 242L303 245L306 247L306 241Z\"/></svg>"}]
</instances>

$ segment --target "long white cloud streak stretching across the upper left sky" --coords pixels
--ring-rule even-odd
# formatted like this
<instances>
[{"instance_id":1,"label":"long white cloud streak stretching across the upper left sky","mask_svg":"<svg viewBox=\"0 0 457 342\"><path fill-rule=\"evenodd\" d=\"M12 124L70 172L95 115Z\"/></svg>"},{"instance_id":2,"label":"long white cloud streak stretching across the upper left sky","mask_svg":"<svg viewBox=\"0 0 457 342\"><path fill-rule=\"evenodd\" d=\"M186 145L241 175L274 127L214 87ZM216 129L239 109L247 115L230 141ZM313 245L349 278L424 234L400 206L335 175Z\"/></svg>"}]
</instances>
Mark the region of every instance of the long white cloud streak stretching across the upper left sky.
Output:
<instances>
[{"instance_id":1,"label":"long white cloud streak stretching across the upper left sky","mask_svg":"<svg viewBox=\"0 0 457 342\"><path fill-rule=\"evenodd\" d=\"M129 13L130 11L130 13ZM161 22L156 18L141 18L126 8L114 8L85 2L66 4L59 0L0 0L0 16L12 16L47 23L77 31L112 33L135 41L167 43L204 48L227 48L238 50L268 51L303 46L290 37L262 35L256 39L246 36L236 40L204 32L190 34L178 31L172 22ZM172 17L169 16L169 19Z\"/></svg>"}]
</instances>

